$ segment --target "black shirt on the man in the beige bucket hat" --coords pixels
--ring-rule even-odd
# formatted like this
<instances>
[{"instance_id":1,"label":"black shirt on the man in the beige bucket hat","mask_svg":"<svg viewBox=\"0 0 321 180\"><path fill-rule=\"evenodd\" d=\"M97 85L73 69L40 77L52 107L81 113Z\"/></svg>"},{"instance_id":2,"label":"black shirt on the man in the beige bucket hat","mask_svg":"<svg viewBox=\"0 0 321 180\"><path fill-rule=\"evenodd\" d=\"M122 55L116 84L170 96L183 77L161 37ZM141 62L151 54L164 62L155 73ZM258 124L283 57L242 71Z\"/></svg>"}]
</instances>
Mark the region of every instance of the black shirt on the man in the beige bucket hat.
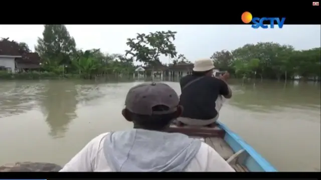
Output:
<instances>
[{"instance_id":1,"label":"black shirt on the man in the beige bucket hat","mask_svg":"<svg viewBox=\"0 0 321 180\"><path fill-rule=\"evenodd\" d=\"M180 80L182 90L180 105L184 107L182 117L211 119L218 113L215 109L215 100L221 94L220 89L224 82L211 76L202 76L184 88L186 84L199 77L187 75Z\"/></svg>"}]
</instances>

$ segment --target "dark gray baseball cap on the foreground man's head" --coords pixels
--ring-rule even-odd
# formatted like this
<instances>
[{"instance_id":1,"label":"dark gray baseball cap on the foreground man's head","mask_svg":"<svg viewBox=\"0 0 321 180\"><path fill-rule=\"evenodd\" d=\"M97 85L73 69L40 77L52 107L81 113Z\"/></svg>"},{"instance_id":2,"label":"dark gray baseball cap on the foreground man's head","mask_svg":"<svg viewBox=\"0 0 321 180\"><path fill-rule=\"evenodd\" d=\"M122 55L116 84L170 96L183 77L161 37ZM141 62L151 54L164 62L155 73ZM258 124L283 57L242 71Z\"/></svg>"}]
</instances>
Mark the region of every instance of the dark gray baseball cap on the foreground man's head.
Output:
<instances>
[{"instance_id":1,"label":"dark gray baseball cap on the foreground man's head","mask_svg":"<svg viewBox=\"0 0 321 180\"><path fill-rule=\"evenodd\" d=\"M149 82L131 87L127 93L126 108L136 114L168 114L175 112L180 98L176 91L166 83ZM165 105L169 110L153 111L152 107Z\"/></svg>"}]
</instances>

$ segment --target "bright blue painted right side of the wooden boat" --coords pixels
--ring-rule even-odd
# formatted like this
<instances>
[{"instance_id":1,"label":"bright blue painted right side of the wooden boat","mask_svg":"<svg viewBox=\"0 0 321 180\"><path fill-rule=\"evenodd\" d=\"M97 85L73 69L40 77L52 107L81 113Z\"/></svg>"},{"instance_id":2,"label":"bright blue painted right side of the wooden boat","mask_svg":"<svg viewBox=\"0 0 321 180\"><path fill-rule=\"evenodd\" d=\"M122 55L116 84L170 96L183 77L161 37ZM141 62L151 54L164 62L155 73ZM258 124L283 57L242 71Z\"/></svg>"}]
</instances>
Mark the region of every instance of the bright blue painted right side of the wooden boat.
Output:
<instances>
[{"instance_id":1,"label":"bright blue painted right side of the wooden boat","mask_svg":"<svg viewBox=\"0 0 321 180\"><path fill-rule=\"evenodd\" d=\"M234 152L238 152L241 149L248 153L243 165L247 167L250 172L276 172L277 170L270 164L264 157L254 150L252 146L246 143L238 134L231 131L222 122L217 122L219 127L225 131L224 140L231 146Z\"/></svg>"}]
</instances>

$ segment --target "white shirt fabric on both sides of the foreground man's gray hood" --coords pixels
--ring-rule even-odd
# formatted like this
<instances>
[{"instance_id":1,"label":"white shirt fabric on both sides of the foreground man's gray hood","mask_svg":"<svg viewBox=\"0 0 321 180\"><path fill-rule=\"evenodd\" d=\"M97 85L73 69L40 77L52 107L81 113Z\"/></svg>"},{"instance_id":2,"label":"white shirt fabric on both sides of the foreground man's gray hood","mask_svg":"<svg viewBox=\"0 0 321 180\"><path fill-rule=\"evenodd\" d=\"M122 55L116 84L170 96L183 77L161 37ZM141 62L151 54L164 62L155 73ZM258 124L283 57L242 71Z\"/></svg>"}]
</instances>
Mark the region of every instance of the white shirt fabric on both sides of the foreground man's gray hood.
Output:
<instances>
[{"instance_id":1,"label":"white shirt fabric on both sides of the foreground man's gray hood","mask_svg":"<svg viewBox=\"0 0 321 180\"><path fill-rule=\"evenodd\" d=\"M83 149L66 163L60 172L112 171L102 150L102 142L108 133L102 133L88 142ZM200 150L185 168L185 171L235 172L218 152L204 142L202 142Z\"/></svg>"}]
</instances>

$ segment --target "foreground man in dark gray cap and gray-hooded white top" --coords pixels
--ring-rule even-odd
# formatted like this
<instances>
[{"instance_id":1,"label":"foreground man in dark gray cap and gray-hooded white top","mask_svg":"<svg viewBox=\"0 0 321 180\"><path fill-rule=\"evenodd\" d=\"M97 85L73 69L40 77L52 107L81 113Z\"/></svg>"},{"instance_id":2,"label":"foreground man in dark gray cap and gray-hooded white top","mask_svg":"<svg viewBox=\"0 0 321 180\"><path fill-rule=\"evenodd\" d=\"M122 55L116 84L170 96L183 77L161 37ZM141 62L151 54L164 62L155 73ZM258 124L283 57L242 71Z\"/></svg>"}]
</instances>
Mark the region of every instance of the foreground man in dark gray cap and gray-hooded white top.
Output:
<instances>
[{"instance_id":1,"label":"foreground man in dark gray cap and gray-hooded white top","mask_svg":"<svg viewBox=\"0 0 321 180\"><path fill-rule=\"evenodd\" d=\"M136 85L122 110L134 128L98 135L60 171L235 171L201 140L163 131L182 111L169 85Z\"/></svg>"}]
</instances>

